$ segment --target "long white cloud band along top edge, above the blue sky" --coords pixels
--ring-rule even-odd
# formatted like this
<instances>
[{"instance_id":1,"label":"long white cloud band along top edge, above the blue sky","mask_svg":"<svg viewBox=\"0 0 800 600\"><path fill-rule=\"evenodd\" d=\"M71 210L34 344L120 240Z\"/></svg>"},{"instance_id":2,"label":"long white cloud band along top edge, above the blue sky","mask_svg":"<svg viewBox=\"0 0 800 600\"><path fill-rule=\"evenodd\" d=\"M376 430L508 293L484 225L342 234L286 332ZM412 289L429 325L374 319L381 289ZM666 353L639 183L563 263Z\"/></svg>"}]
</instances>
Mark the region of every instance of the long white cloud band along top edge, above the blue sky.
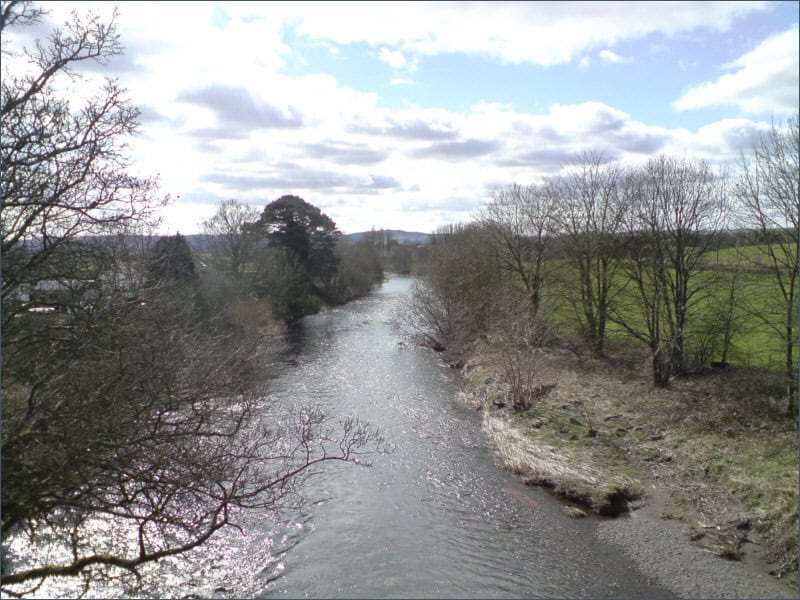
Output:
<instances>
[{"instance_id":1,"label":"long white cloud band along top edge, above the blue sky","mask_svg":"<svg viewBox=\"0 0 800 600\"><path fill-rule=\"evenodd\" d=\"M358 10L342 18L343 8ZM765 2L314 4L294 27L312 39L386 47L383 59L465 53L511 64L557 65L653 33L726 31ZM409 58L411 57L411 58Z\"/></svg>"}]
</instances>

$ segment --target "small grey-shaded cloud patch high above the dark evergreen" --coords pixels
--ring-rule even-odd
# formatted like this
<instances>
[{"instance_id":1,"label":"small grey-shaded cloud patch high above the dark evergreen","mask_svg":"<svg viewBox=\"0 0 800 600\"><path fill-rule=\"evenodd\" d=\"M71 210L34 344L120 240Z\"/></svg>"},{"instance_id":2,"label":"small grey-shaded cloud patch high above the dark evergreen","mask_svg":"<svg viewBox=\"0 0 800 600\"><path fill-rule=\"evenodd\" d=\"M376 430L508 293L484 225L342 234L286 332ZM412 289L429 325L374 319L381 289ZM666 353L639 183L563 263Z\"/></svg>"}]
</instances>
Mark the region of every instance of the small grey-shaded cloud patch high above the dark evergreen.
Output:
<instances>
[{"instance_id":1,"label":"small grey-shaded cloud patch high above the dark evergreen","mask_svg":"<svg viewBox=\"0 0 800 600\"><path fill-rule=\"evenodd\" d=\"M212 110L223 125L251 129L296 129L303 125L303 117L294 107L274 106L241 86L213 84L181 92L177 100Z\"/></svg>"}]
</instances>

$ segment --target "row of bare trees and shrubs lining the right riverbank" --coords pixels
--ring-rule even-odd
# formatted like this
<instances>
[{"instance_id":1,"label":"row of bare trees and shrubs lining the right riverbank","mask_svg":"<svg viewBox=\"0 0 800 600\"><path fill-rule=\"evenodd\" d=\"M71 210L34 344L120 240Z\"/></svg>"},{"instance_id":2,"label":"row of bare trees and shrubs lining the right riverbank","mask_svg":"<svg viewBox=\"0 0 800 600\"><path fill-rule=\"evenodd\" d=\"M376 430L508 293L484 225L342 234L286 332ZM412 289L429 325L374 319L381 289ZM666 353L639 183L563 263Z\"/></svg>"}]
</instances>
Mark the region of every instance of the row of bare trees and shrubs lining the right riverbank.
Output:
<instances>
[{"instance_id":1,"label":"row of bare trees and shrubs lining the right riverbank","mask_svg":"<svg viewBox=\"0 0 800 600\"><path fill-rule=\"evenodd\" d=\"M761 133L735 173L587 151L557 176L498 189L473 222L433 236L407 321L456 352L503 334L602 357L613 331L649 350L660 387L768 332L783 358L765 366L783 371L794 417L799 146L795 115Z\"/></svg>"}]
</instances>

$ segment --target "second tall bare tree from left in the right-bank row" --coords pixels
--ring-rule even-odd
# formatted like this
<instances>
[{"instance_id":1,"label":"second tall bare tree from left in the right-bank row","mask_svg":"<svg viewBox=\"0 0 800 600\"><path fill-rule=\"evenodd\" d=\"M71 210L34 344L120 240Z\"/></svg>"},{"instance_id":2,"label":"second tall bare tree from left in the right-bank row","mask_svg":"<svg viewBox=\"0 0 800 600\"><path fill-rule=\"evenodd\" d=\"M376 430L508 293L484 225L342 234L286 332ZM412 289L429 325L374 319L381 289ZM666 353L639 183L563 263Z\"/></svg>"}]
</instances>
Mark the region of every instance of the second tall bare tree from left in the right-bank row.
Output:
<instances>
[{"instance_id":1,"label":"second tall bare tree from left in the right-bank row","mask_svg":"<svg viewBox=\"0 0 800 600\"><path fill-rule=\"evenodd\" d=\"M562 246L575 270L567 274L567 301L595 356L603 355L609 315L622 288L620 239L628 211L622 178L602 154L586 152L578 165L551 181L559 199Z\"/></svg>"}]
</instances>

